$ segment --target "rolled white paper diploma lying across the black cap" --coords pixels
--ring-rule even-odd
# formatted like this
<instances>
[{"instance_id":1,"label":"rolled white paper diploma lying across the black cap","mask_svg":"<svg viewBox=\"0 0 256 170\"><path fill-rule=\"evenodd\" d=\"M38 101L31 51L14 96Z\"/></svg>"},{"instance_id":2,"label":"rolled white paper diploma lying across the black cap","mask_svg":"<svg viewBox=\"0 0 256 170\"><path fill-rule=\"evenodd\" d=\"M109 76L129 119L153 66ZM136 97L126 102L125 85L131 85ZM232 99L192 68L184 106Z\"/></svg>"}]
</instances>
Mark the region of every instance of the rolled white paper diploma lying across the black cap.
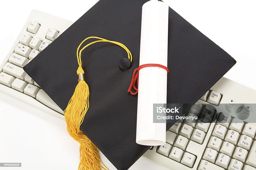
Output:
<instances>
[{"instance_id":1,"label":"rolled white paper diploma lying across the black cap","mask_svg":"<svg viewBox=\"0 0 256 170\"><path fill-rule=\"evenodd\" d=\"M142 6L140 65L167 67L168 11L163 2L151 0ZM140 70L138 83L136 143L165 144L166 123L153 123L153 103L166 103L167 71L159 67Z\"/></svg>"}]
</instances>

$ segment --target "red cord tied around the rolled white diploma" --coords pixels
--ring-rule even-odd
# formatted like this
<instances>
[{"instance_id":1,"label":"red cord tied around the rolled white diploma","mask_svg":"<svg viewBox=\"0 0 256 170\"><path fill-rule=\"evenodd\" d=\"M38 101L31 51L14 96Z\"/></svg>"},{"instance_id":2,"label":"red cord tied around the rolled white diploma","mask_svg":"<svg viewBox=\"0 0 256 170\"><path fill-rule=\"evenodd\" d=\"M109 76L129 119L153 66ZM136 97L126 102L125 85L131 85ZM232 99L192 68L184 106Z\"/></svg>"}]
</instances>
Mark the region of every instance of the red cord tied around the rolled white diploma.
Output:
<instances>
[{"instance_id":1,"label":"red cord tied around the rolled white diploma","mask_svg":"<svg viewBox=\"0 0 256 170\"><path fill-rule=\"evenodd\" d=\"M132 74L132 82L130 84L130 87L128 89L128 92L130 92L132 95L136 95L138 93L138 88L135 87L135 83L137 81L137 85L139 84L139 71L140 69L143 69L145 67L160 67L162 69L165 69L167 71L167 73L169 73L169 70L167 67L161 65L161 64L143 64L141 66L139 66L137 69L134 70L133 74ZM137 71L137 73L136 73ZM135 75L136 73L136 75ZM132 88L134 88L136 90L135 93L132 92Z\"/></svg>"}]
</instances>

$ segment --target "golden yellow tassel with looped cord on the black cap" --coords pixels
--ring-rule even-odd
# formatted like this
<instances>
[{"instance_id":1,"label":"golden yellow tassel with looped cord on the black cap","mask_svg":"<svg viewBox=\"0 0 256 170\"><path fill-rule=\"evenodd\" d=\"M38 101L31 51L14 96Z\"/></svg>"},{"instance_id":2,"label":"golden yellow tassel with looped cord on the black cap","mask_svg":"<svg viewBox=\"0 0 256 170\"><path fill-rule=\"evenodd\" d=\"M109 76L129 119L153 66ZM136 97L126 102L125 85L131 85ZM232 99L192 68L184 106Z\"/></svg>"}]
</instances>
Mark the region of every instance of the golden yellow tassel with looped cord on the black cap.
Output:
<instances>
[{"instance_id":1,"label":"golden yellow tassel with looped cord on the black cap","mask_svg":"<svg viewBox=\"0 0 256 170\"><path fill-rule=\"evenodd\" d=\"M89 38L98 38L100 40L87 44L79 51L83 42L88 40ZM126 50L128 58L132 61L132 54L125 45L119 42L109 41L99 37L88 37L84 39L77 48L77 61L79 65L77 69L78 84L76 86L73 96L68 103L67 108L64 110L64 116L67 123L67 130L69 135L73 137L74 140L80 143L80 163L78 166L79 170L100 170L101 168L105 170L108 169L100 160L99 149L80 130L80 126L83 122L84 116L89 109L89 87L84 81L84 71L82 69L81 53L86 47L97 42L110 42L121 46Z\"/></svg>"}]
</instances>

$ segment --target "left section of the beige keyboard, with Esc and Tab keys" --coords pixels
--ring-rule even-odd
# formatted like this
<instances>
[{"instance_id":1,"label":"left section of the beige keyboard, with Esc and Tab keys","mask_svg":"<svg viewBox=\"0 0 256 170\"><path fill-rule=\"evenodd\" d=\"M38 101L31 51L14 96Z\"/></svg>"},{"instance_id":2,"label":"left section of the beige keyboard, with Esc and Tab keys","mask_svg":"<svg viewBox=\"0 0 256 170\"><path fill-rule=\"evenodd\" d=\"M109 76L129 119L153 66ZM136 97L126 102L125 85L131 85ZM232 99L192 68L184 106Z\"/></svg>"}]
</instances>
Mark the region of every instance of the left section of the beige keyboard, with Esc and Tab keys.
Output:
<instances>
[{"instance_id":1,"label":"left section of the beige keyboard, with Esc and Tab keys","mask_svg":"<svg viewBox=\"0 0 256 170\"><path fill-rule=\"evenodd\" d=\"M64 119L63 111L23 70L73 22L32 10L0 68L0 91Z\"/></svg>"}]
</instances>

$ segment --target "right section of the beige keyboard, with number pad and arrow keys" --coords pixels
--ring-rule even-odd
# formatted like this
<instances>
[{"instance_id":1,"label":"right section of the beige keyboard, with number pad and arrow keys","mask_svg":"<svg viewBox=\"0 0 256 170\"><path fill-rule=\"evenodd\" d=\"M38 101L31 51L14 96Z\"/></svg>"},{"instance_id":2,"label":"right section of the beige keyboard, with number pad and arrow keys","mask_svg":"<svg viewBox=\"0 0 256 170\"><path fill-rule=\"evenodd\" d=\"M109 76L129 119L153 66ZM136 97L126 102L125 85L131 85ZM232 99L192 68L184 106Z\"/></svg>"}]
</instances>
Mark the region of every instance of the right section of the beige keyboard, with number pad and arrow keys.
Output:
<instances>
[{"instance_id":1,"label":"right section of the beige keyboard, with number pad and arrow keys","mask_svg":"<svg viewBox=\"0 0 256 170\"><path fill-rule=\"evenodd\" d=\"M172 170L255 170L256 107L238 104L255 103L255 95L256 90L222 77L186 114L201 118L177 121L166 132L166 143L144 156ZM248 116L237 112L246 112L243 108Z\"/></svg>"}]
</instances>

